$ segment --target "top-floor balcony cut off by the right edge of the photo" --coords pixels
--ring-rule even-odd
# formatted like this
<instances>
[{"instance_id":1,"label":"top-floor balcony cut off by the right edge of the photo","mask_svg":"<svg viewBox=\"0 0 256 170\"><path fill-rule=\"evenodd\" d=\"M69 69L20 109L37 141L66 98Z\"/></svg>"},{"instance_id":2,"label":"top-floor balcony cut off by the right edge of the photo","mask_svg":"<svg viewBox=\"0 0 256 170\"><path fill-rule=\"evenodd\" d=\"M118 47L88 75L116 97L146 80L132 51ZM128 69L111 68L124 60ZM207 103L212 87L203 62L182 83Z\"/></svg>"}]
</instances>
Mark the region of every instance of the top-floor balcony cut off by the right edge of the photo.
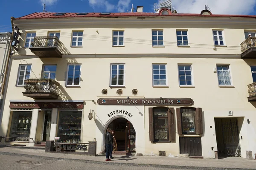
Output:
<instances>
[{"instance_id":1,"label":"top-floor balcony cut off by the right edge of the photo","mask_svg":"<svg viewBox=\"0 0 256 170\"><path fill-rule=\"evenodd\" d=\"M256 37L248 37L241 43L241 58L256 58Z\"/></svg>"}]
</instances>

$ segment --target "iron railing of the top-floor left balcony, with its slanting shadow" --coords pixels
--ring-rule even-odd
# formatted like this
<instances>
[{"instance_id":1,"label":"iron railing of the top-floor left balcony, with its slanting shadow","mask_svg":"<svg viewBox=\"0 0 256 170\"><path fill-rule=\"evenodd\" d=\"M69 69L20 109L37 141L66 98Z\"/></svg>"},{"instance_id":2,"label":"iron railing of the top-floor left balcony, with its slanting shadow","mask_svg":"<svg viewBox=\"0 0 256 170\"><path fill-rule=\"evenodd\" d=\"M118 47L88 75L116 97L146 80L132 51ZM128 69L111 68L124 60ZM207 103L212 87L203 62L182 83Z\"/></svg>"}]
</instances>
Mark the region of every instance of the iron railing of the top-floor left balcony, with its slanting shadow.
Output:
<instances>
[{"instance_id":1,"label":"iron railing of the top-floor left balcony, with its slanting shadow","mask_svg":"<svg viewBox=\"0 0 256 170\"><path fill-rule=\"evenodd\" d=\"M47 47L47 48L57 48L58 51L63 55L70 55L71 53L65 47L65 45L58 39L58 37L47 36L47 37L34 37L34 41L31 43L32 48L36 47Z\"/></svg>"}]
</instances>

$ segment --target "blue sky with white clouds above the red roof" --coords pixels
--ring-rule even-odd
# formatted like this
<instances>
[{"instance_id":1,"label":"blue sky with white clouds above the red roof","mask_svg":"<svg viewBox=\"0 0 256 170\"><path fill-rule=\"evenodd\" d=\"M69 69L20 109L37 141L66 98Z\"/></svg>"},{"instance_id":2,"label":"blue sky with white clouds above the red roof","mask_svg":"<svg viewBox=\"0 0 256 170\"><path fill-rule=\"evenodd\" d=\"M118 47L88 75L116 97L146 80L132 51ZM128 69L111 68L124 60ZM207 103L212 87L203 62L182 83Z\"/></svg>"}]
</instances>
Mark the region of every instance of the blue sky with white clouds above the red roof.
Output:
<instances>
[{"instance_id":1,"label":"blue sky with white clouds above the red roof","mask_svg":"<svg viewBox=\"0 0 256 170\"><path fill-rule=\"evenodd\" d=\"M158 0L0 0L0 32L11 31L10 17L42 12L43 3L51 12L126 12L131 4L153 12ZM208 5L213 14L256 15L256 0L172 0L178 13L200 13Z\"/></svg>"}]
</instances>

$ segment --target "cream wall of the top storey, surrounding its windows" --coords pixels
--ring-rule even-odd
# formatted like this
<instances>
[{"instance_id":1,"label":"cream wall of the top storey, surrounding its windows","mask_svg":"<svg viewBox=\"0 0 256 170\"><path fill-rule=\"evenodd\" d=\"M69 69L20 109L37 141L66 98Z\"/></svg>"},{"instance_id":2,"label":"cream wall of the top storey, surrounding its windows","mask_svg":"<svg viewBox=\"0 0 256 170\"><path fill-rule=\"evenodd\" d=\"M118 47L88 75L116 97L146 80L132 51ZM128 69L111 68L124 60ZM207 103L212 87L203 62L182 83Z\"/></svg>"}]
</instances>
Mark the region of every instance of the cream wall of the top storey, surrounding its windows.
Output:
<instances>
[{"instance_id":1,"label":"cream wall of the top storey, surrounding its windows","mask_svg":"<svg viewBox=\"0 0 256 170\"><path fill-rule=\"evenodd\" d=\"M57 22L57 21L56 21ZM254 20L252 21L254 22ZM19 23L17 23L19 26ZM24 26L18 55L34 55L24 46L26 32L36 32L36 36L47 36L49 31L60 31L60 40L71 54L241 54L240 43L245 40L244 30L254 30L255 25L231 25L216 23L175 23L166 24L81 24L65 26ZM152 47L152 29L163 30L164 47ZM112 47L112 31L124 30L125 47ZM190 47L177 47L176 30L188 30ZM216 46L212 30L223 30L225 46ZM71 47L72 31L83 31L82 47ZM98 33L97 33L98 31Z\"/></svg>"}]
</instances>

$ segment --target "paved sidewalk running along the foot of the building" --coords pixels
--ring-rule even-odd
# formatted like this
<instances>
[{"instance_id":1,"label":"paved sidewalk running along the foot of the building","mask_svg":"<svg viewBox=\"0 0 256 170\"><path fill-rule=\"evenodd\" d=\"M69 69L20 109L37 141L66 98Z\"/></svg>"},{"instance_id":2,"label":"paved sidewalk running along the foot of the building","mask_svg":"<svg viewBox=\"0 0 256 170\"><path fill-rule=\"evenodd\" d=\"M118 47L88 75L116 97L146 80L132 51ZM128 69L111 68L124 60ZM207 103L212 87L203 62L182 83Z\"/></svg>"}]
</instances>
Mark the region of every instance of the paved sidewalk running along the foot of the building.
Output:
<instances>
[{"instance_id":1,"label":"paved sidewalk running along the foot of the building","mask_svg":"<svg viewBox=\"0 0 256 170\"><path fill-rule=\"evenodd\" d=\"M114 159L111 162L105 162L105 155L98 156L83 156L64 153L45 153L44 150L22 149L12 147L0 147L0 155L17 155L23 157L41 157L57 160L70 159L73 161L89 161L95 163L108 163L108 164L136 164L139 166L152 165L166 166L172 168L188 168L198 169L199 167L212 168L234 168L234 169L256 169L256 160L247 160L244 158L224 158L224 159L189 159L177 157L160 157L160 156L122 156L113 155ZM194 168L193 168L194 169Z\"/></svg>"}]
</instances>

